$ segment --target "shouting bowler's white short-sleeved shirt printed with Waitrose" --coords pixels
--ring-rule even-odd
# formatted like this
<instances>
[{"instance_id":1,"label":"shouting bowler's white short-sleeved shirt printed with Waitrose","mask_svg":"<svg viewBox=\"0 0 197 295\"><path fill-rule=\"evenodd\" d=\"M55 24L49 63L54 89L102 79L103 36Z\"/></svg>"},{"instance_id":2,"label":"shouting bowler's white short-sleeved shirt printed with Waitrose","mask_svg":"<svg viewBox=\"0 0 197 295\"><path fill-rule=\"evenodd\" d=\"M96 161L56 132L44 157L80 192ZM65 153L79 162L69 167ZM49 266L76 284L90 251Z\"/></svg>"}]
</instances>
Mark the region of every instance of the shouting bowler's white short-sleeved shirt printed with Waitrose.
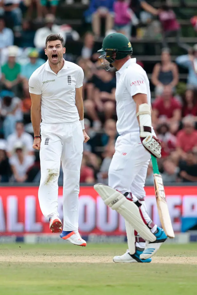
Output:
<instances>
[{"instance_id":1,"label":"shouting bowler's white short-sleeved shirt printed with Waitrose","mask_svg":"<svg viewBox=\"0 0 197 295\"><path fill-rule=\"evenodd\" d=\"M83 70L73 62L63 61L64 66L58 74L51 70L47 61L29 79L29 92L41 94L41 125L79 120L75 88L83 85Z\"/></svg>"}]
</instances>

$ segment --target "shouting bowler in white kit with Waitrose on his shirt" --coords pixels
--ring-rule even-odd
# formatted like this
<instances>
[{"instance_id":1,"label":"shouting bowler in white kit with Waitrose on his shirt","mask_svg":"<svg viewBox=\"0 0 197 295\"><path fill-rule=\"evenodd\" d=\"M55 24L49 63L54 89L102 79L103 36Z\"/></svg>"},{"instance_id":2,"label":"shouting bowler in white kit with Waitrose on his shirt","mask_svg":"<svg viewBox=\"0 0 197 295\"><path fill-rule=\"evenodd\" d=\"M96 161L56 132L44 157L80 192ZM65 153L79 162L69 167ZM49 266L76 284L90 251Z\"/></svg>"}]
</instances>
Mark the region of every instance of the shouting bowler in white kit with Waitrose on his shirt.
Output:
<instances>
[{"instance_id":1,"label":"shouting bowler in white kit with Waitrose on his shirt","mask_svg":"<svg viewBox=\"0 0 197 295\"><path fill-rule=\"evenodd\" d=\"M66 49L60 35L46 38L48 60L29 79L34 149L40 149L41 179L38 199L52 233L86 246L78 232L78 194L84 130L83 70L63 59ZM40 126L41 125L41 126ZM41 130L41 136L40 136ZM63 169L63 231L58 214L58 177Z\"/></svg>"}]
</instances>

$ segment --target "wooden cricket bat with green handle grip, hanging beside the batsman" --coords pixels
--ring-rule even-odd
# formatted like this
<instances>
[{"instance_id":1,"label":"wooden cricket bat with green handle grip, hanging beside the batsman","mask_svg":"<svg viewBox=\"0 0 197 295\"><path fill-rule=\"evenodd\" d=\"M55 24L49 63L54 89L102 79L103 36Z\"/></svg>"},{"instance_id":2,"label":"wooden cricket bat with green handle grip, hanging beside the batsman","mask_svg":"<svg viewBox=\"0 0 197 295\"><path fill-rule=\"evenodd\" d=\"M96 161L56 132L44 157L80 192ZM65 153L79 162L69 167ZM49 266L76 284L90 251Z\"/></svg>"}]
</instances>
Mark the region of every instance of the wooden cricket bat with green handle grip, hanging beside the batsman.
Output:
<instances>
[{"instance_id":1,"label":"wooden cricket bat with green handle grip, hanging beside the batsman","mask_svg":"<svg viewBox=\"0 0 197 295\"><path fill-rule=\"evenodd\" d=\"M151 155L151 160L153 165L154 188L155 188L155 197L157 201L159 219L161 221L163 230L166 233L166 235L169 238L173 239L175 237L175 234L172 228L170 213L169 213L167 202L166 202L163 179L162 179L162 176L159 174L157 159Z\"/></svg>"}]
</instances>

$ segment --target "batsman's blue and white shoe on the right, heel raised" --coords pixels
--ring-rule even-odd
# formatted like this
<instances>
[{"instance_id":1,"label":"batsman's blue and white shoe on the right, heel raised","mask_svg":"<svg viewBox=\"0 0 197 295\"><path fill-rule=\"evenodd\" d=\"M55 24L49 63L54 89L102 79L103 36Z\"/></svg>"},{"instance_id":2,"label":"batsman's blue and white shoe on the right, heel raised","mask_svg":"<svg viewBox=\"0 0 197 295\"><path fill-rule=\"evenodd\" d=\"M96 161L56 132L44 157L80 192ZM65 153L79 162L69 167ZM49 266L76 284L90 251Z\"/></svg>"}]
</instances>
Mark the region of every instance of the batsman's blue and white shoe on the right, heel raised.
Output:
<instances>
[{"instance_id":1,"label":"batsman's blue and white shoe on the right, heel raised","mask_svg":"<svg viewBox=\"0 0 197 295\"><path fill-rule=\"evenodd\" d=\"M157 227L158 232L155 233L155 237L157 238L154 242L148 242L142 254L140 254L140 259L147 260L151 256L153 256L161 247L161 245L166 241L167 235L164 230L160 227Z\"/></svg>"}]
</instances>

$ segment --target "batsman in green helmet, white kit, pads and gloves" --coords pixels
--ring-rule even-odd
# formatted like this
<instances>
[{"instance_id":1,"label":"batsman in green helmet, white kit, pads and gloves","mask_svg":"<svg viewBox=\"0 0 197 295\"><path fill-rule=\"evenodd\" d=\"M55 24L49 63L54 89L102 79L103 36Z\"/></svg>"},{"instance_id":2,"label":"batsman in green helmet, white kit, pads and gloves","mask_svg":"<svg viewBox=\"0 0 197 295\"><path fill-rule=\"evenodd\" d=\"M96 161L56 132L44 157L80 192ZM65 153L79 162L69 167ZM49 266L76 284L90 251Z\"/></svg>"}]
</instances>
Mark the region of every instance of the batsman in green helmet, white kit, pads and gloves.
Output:
<instances>
[{"instance_id":1,"label":"batsman in green helmet, white kit, pads and gloves","mask_svg":"<svg viewBox=\"0 0 197 295\"><path fill-rule=\"evenodd\" d=\"M106 70L115 67L116 112L119 137L109 168L109 186L94 185L106 205L118 211L126 224L128 248L115 262L151 262L167 239L147 214L144 184L151 155L161 157L161 142L151 127L151 92L146 72L131 58L132 47L120 33L103 39L99 58ZM148 241L145 244L145 241Z\"/></svg>"}]
</instances>

